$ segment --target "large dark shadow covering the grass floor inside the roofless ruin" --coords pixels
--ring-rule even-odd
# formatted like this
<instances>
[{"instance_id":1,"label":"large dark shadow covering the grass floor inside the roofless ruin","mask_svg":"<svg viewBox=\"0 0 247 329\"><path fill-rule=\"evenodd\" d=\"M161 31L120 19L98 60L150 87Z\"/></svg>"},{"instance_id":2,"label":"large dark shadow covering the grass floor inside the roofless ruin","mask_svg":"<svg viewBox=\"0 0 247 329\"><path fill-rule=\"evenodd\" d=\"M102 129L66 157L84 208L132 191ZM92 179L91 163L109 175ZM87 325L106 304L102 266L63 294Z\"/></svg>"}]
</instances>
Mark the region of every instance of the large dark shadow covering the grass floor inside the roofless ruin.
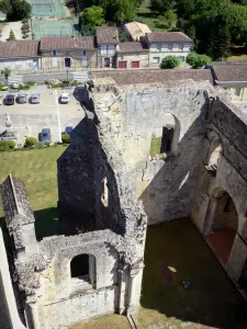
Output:
<instances>
[{"instance_id":1,"label":"large dark shadow covering the grass floor inside the roofless ruin","mask_svg":"<svg viewBox=\"0 0 247 329\"><path fill-rule=\"evenodd\" d=\"M167 318L247 328L246 303L189 218L148 227L141 303Z\"/></svg>"}]
</instances>

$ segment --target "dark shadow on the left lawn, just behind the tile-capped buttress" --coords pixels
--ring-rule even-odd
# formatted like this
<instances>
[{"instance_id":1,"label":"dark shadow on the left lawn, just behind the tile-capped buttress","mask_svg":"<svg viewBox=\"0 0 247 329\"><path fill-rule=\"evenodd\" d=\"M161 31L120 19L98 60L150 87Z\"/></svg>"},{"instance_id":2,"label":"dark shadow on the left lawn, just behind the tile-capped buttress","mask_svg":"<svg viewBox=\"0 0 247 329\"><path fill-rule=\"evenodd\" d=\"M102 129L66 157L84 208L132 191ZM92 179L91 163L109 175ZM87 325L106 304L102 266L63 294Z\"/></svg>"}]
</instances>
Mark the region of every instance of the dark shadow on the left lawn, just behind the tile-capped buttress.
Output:
<instances>
[{"instance_id":1,"label":"dark shadow on the left lawn, just behind the tile-capped buttress","mask_svg":"<svg viewBox=\"0 0 247 329\"><path fill-rule=\"evenodd\" d=\"M56 207L36 211L34 212L34 217L37 240L57 235L58 215Z\"/></svg>"}]
</instances>

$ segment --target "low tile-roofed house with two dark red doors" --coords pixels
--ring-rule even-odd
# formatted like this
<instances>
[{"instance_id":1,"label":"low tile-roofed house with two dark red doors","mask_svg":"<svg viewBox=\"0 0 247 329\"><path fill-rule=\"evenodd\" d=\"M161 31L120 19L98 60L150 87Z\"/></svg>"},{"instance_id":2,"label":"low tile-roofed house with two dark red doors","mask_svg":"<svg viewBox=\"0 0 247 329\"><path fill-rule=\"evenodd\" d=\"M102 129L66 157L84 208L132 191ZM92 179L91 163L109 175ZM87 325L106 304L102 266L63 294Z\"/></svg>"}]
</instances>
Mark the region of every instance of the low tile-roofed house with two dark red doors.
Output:
<instances>
[{"instance_id":1,"label":"low tile-roofed house with two dark red doors","mask_svg":"<svg viewBox=\"0 0 247 329\"><path fill-rule=\"evenodd\" d=\"M116 54L119 69L148 67L148 49L138 42L120 43Z\"/></svg>"}]
</instances>

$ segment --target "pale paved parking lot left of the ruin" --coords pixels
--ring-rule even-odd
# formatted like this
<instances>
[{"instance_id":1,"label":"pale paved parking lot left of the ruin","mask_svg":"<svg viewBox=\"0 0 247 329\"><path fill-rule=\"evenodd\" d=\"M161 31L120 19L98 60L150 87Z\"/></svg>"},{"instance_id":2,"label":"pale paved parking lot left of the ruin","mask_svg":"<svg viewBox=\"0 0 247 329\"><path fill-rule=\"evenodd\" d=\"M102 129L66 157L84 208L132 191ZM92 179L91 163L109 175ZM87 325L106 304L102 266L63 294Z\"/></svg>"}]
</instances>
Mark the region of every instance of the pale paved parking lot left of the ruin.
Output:
<instances>
[{"instance_id":1,"label":"pale paved parking lot left of the ruin","mask_svg":"<svg viewBox=\"0 0 247 329\"><path fill-rule=\"evenodd\" d=\"M49 128L52 132L52 143L60 141L61 133L67 126L75 127L85 116L85 112L79 103L79 91L69 90L50 90L46 86L35 86L27 91L22 91L27 95L27 102L14 105L0 105L0 133L7 129L5 113L10 115L13 133L18 137L16 144L23 144L26 136L38 138L43 128ZM70 101L68 104L59 103L61 92L69 93ZM0 92L5 97L13 92ZM38 93L41 102L32 104L30 98L33 93ZM18 97L19 92L14 92Z\"/></svg>"}]
</instances>

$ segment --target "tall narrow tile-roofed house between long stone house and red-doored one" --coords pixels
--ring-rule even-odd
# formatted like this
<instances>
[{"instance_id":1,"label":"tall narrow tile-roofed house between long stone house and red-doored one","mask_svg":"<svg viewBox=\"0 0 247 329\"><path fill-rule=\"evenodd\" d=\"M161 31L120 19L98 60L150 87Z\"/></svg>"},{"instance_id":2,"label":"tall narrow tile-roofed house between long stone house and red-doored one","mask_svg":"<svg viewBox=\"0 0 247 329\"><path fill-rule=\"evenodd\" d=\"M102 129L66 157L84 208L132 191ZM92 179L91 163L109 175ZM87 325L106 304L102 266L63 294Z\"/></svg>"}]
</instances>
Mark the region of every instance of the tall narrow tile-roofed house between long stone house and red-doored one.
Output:
<instances>
[{"instance_id":1,"label":"tall narrow tile-roofed house between long stone house and red-doored one","mask_svg":"<svg viewBox=\"0 0 247 329\"><path fill-rule=\"evenodd\" d=\"M98 67L110 68L116 66L115 55L119 43L119 32L116 27L97 27Z\"/></svg>"}]
</instances>

